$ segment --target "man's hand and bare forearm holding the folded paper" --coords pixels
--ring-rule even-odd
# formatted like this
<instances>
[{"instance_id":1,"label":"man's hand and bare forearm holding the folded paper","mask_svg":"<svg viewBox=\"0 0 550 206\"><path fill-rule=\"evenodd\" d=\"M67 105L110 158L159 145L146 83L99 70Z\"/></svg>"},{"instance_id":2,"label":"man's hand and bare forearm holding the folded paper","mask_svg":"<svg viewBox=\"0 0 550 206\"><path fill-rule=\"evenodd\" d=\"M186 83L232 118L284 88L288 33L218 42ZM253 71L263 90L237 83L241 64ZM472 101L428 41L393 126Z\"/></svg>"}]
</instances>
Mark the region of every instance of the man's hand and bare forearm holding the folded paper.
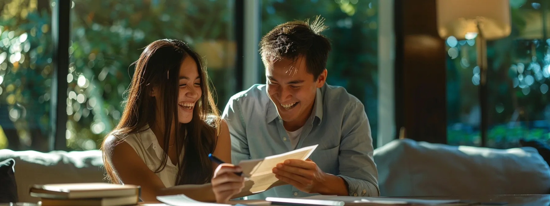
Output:
<instances>
[{"instance_id":1,"label":"man's hand and bare forearm holding the folded paper","mask_svg":"<svg viewBox=\"0 0 550 206\"><path fill-rule=\"evenodd\" d=\"M342 178L323 172L310 159L285 160L283 164L277 164L272 171L277 179L303 192L348 196L348 188Z\"/></svg>"}]
</instances>

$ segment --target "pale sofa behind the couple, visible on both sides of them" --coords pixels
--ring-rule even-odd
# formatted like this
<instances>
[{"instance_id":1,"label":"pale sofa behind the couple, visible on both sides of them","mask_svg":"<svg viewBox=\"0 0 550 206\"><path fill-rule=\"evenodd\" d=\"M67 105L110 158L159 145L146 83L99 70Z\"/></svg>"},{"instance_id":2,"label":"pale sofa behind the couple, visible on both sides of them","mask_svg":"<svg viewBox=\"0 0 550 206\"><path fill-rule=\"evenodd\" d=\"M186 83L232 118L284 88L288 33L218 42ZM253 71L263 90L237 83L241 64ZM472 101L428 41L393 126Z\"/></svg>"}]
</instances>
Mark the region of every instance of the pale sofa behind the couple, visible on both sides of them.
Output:
<instances>
[{"instance_id":1,"label":"pale sofa behind the couple, visible on both sides of them","mask_svg":"<svg viewBox=\"0 0 550 206\"><path fill-rule=\"evenodd\" d=\"M381 196L542 194L550 168L536 149L489 149L394 140L375 150ZM37 202L29 186L102 182L101 151L40 153L0 150L0 162L15 159L20 202Z\"/></svg>"}]
</instances>

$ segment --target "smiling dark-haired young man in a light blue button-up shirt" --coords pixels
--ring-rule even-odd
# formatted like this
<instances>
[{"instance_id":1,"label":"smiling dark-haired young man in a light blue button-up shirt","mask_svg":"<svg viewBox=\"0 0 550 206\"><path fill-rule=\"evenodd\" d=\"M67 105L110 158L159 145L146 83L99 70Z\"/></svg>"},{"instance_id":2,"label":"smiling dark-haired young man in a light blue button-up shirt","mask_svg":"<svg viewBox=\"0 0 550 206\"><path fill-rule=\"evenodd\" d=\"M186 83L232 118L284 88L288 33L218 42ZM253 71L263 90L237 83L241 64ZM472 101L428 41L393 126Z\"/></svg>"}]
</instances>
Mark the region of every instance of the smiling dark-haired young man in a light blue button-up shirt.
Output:
<instances>
[{"instance_id":1,"label":"smiling dark-haired young man in a light blue button-up shirt","mask_svg":"<svg viewBox=\"0 0 550 206\"><path fill-rule=\"evenodd\" d=\"M223 112L235 164L318 144L310 160L289 160L273 168L288 185L249 199L314 193L379 196L364 106L343 87L325 83L331 45L320 34L324 29L320 18L311 24L290 21L263 36L267 85L235 94Z\"/></svg>"}]
</instances>

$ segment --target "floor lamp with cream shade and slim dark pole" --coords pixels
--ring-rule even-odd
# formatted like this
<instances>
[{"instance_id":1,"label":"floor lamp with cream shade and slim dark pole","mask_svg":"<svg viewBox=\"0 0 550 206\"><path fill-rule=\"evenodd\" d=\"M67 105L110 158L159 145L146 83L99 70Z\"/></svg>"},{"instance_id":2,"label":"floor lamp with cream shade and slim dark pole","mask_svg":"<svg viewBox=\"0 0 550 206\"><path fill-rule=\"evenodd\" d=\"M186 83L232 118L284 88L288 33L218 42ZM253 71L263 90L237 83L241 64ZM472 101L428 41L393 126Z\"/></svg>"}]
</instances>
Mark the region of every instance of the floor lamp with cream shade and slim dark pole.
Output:
<instances>
[{"instance_id":1,"label":"floor lamp with cream shade and slim dark pole","mask_svg":"<svg viewBox=\"0 0 550 206\"><path fill-rule=\"evenodd\" d=\"M480 68L481 146L486 147L488 129L487 40L510 35L510 5L503 0L437 0L439 36L475 39Z\"/></svg>"}]
</instances>

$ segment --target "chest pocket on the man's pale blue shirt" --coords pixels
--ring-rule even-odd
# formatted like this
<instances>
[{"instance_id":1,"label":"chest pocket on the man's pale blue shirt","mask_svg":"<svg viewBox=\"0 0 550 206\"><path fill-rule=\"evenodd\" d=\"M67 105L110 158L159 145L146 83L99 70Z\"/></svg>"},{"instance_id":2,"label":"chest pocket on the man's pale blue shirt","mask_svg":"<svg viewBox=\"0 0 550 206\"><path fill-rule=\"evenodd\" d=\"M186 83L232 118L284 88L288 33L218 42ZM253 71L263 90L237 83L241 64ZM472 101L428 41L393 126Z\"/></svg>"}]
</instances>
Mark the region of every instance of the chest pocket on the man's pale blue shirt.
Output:
<instances>
[{"instance_id":1,"label":"chest pocket on the man's pale blue shirt","mask_svg":"<svg viewBox=\"0 0 550 206\"><path fill-rule=\"evenodd\" d=\"M336 146L330 149L315 150L310 155L310 159L328 174L338 175L339 163L338 154L340 153L340 146Z\"/></svg>"}]
</instances>

